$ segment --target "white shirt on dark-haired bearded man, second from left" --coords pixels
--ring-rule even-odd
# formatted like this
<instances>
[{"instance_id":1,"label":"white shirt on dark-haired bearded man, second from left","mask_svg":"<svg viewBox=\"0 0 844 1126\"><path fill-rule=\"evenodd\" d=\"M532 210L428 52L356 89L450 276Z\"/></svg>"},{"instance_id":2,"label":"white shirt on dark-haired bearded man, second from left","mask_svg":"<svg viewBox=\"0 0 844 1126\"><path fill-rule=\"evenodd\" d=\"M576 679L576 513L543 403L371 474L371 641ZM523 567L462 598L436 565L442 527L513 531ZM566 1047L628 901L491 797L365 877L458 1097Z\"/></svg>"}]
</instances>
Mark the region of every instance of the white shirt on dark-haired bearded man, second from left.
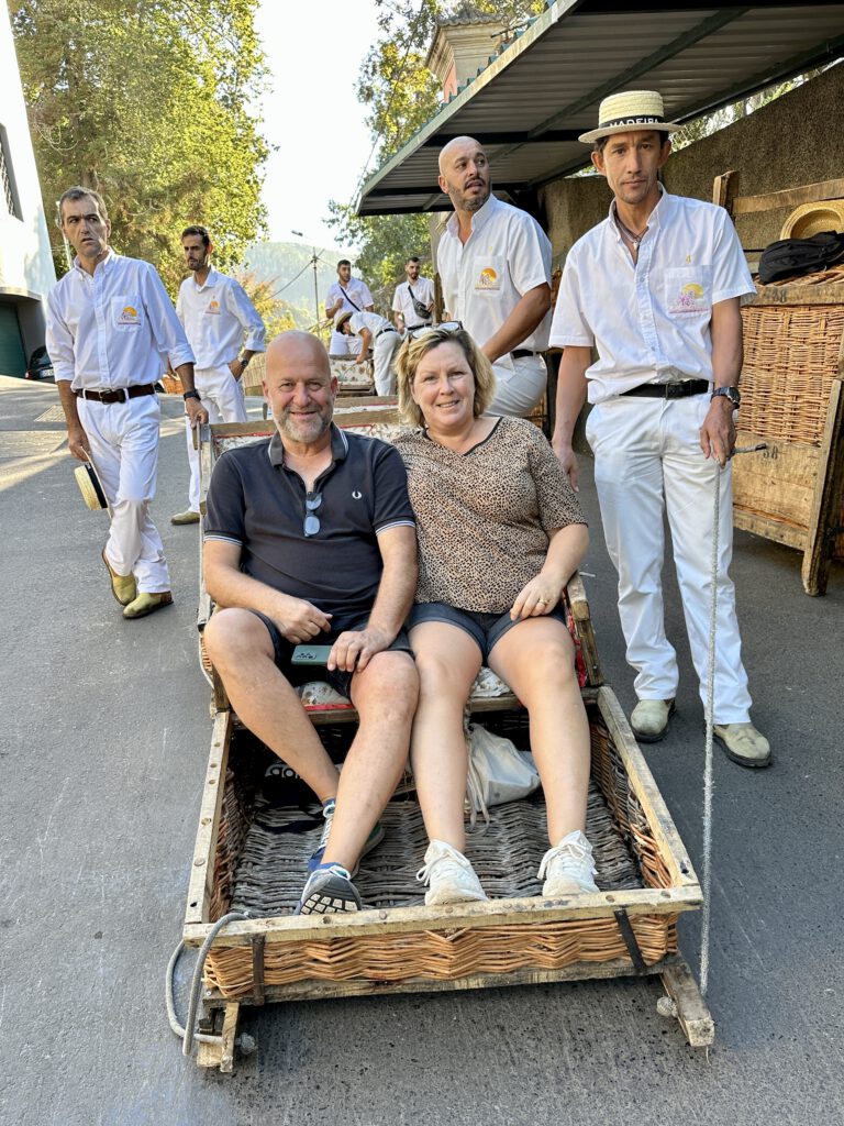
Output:
<instances>
[{"instance_id":1,"label":"white shirt on dark-haired bearded man, second from left","mask_svg":"<svg viewBox=\"0 0 844 1126\"><path fill-rule=\"evenodd\" d=\"M223 367L241 348L264 350L263 321L243 286L213 266L205 285L197 285L195 274L182 282L176 312L199 368Z\"/></svg>"}]
</instances>

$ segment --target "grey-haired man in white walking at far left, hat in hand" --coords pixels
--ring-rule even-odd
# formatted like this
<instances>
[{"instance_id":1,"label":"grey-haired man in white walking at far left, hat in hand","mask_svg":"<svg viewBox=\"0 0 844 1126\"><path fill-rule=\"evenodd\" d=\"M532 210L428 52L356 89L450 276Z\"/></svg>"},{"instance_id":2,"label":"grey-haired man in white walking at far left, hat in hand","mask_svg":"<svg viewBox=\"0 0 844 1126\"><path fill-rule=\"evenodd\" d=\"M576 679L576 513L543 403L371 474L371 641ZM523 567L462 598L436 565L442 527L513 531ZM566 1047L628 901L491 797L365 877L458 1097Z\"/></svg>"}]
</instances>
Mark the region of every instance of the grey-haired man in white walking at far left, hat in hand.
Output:
<instances>
[{"instance_id":1,"label":"grey-haired man in white walking at far left, hat in hand","mask_svg":"<svg viewBox=\"0 0 844 1126\"><path fill-rule=\"evenodd\" d=\"M125 618L172 602L164 548L150 517L155 495L161 356L185 386L191 425L207 421L194 390L194 354L161 278L149 262L116 254L102 198L69 188L60 225L77 251L47 300L47 350L68 422L68 445L91 461L111 509L102 552Z\"/></svg>"}]
</instances>

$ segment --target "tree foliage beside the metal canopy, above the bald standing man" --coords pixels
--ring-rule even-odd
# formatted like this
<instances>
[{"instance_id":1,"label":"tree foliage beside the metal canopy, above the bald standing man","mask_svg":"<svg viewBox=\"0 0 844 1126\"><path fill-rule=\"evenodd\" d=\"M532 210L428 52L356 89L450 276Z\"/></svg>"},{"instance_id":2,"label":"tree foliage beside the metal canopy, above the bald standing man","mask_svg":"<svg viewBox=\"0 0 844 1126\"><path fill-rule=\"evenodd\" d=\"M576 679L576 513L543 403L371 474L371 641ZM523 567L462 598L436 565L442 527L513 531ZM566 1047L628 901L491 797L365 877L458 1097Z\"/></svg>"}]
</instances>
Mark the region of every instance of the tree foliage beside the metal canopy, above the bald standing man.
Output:
<instances>
[{"instance_id":1,"label":"tree foliage beside the metal canopy, above the bald standing man","mask_svg":"<svg viewBox=\"0 0 844 1126\"><path fill-rule=\"evenodd\" d=\"M380 36L360 66L357 95L367 107L366 122L372 135L372 152L361 175L369 167L384 163L405 145L440 105L438 80L425 66L425 56L437 32L438 20L473 14L495 16L505 27L515 29L544 8L542 0L477 0L455 3L447 0L376 0ZM500 44L491 39L490 54ZM344 242L360 247L357 266L372 288L381 312L389 307L392 289L403 277L410 254L424 259L429 248L428 217L424 215L385 215L361 217L353 202L332 200L332 226ZM378 291L376 294L375 291Z\"/></svg>"}]
</instances>

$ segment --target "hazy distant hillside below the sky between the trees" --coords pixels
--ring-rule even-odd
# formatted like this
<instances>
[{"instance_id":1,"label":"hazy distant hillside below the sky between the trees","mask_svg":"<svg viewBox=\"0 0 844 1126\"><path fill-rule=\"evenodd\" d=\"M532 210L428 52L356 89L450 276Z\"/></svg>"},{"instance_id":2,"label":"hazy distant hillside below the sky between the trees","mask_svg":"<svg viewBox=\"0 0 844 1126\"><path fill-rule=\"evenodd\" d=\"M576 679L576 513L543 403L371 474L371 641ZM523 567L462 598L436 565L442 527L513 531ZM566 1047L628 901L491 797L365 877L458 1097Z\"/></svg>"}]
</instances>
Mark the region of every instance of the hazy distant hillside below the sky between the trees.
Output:
<instances>
[{"instance_id":1,"label":"hazy distant hillside below the sky between the trees","mask_svg":"<svg viewBox=\"0 0 844 1126\"><path fill-rule=\"evenodd\" d=\"M336 280L336 263L341 258L354 260L348 252L331 250L316 251L316 289L320 315L324 315L325 294ZM255 242L244 256L245 268L261 282L272 284L273 294L288 304L296 322L303 328L314 322L314 270L311 266L312 251L300 242Z\"/></svg>"}]
</instances>

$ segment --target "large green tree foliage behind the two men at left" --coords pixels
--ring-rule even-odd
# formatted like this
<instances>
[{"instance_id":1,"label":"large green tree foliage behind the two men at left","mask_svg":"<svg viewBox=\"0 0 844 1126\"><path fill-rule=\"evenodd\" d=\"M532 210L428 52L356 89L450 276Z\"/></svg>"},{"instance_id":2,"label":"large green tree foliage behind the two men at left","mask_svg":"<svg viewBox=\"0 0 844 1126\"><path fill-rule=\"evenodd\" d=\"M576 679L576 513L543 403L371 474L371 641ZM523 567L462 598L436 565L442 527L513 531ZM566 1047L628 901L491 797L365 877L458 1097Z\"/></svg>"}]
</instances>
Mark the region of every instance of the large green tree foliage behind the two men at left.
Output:
<instances>
[{"instance_id":1,"label":"large green tree foliage behind the two men at left","mask_svg":"<svg viewBox=\"0 0 844 1126\"><path fill-rule=\"evenodd\" d=\"M106 199L111 241L174 292L179 235L212 231L226 268L263 227L267 145L251 107L263 82L258 0L10 0L44 193ZM56 268L65 268L51 224Z\"/></svg>"}]
</instances>

